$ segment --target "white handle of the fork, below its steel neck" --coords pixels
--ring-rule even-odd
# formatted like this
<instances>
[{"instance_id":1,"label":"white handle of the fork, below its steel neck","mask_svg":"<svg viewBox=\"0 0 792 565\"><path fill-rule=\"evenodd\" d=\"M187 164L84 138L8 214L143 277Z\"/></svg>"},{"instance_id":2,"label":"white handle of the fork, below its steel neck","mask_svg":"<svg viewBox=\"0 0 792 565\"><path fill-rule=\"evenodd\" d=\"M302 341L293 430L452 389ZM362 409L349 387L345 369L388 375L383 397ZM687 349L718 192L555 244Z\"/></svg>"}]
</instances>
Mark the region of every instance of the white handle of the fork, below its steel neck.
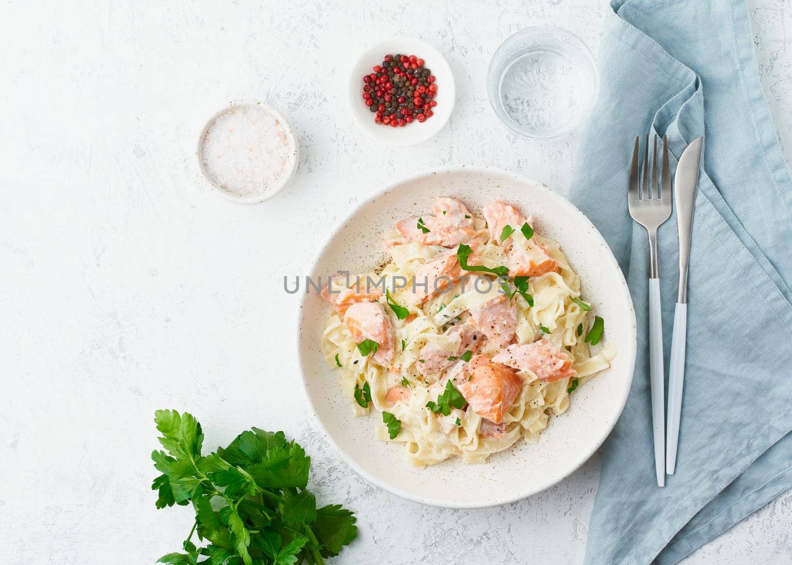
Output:
<instances>
[{"instance_id":1,"label":"white handle of the fork, below its steel neck","mask_svg":"<svg viewBox=\"0 0 792 565\"><path fill-rule=\"evenodd\" d=\"M649 387L652 392L652 428L657 486L665 485L665 400L663 373L663 328L660 309L660 279L649 279Z\"/></svg>"}]
</instances>

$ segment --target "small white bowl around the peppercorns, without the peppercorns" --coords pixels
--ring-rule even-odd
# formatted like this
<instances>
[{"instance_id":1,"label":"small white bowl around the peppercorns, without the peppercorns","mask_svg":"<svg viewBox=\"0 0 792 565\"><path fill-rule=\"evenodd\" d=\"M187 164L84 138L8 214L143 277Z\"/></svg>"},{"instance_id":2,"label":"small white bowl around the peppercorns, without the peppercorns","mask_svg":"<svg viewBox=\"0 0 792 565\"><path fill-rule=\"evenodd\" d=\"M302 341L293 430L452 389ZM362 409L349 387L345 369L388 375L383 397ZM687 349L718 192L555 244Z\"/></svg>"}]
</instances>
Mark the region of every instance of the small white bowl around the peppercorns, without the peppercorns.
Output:
<instances>
[{"instance_id":1,"label":"small white bowl around the peppercorns, without the peppercorns","mask_svg":"<svg viewBox=\"0 0 792 565\"><path fill-rule=\"evenodd\" d=\"M434 98L437 100L437 105L432 108L434 115L424 123L408 123L405 127L390 127L382 123L374 123L375 114L368 109L363 99L363 76L371 74L371 68L382 64L383 57L389 53L390 55L397 53L416 55L424 59L426 68L431 70L437 79L437 96ZM451 67L448 66L440 51L414 37L391 37L367 47L360 54L360 58L357 59L349 73L347 94L349 109L360 129L379 142L403 147L425 142L443 129L448 118L451 117L451 110L454 109L456 86Z\"/></svg>"}]
</instances>

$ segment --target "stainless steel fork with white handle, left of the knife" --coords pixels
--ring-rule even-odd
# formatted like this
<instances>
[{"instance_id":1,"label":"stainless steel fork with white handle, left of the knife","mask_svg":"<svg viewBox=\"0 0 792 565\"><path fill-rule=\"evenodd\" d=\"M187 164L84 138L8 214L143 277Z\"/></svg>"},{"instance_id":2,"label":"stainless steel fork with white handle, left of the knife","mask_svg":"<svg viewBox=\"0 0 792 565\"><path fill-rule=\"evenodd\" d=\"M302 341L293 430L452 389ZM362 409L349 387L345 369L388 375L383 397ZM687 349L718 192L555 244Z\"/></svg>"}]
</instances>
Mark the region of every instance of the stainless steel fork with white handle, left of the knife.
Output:
<instances>
[{"instance_id":1,"label":"stainless steel fork with white handle, left of the knife","mask_svg":"<svg viewBox=\"0 0 792 565\"><path fill-rule=\"evenodd\" d=\"M660 308L660 279L657 268L657 228L671 216L671 173L668 166L668 138L663 136L661 184L657 183L657 135L654 154L649 161L649 135L643 159L643 182L639 182L639 138L635 138L627 206L630 216L649 233L649 385L652 391L652 427L657 486L665 484L665 399L663 373L663 329ZM651 169L651 174L649 173Z\"/></svg>"}]
</instances>

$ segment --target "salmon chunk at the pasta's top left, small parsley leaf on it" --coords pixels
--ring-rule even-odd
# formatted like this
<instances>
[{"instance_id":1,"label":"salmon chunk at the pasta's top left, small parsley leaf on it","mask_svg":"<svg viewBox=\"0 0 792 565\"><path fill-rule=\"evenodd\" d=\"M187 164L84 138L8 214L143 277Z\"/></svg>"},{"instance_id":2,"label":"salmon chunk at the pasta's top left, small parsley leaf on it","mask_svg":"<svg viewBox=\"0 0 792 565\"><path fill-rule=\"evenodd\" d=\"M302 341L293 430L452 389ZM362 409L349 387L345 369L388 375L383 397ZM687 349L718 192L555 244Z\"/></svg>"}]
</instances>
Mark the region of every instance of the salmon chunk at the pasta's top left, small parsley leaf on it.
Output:
<instances>
[{"instance_id":1,"label":"salmon chunk at the pasta's top left, small parsley leaf on it","mask_svg":"<svg viewBox=\"0 0 792 565\"><path fill-rule=\"evenodd\" d=\"M434 216L405 218L396 223L396 229L409 241L443 247L467 243L475 235L473 216L459 200L438 196L434 212ZM419 220L428 231L418 227Z\"/></svg>"}]
</instances>

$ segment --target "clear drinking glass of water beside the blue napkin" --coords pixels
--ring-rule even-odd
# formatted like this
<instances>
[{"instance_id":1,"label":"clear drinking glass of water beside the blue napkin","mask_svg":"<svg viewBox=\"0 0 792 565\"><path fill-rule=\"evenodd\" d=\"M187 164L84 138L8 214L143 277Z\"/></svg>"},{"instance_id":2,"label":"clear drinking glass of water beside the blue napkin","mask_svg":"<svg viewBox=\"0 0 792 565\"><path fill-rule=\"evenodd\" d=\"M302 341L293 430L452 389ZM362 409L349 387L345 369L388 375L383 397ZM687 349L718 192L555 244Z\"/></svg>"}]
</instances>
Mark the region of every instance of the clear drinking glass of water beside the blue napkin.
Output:
<instances>
[{"instance_id":1,"label":"clear drinking glass of water beside the blue napkin","mask_svg":"<svg viewBox=\"0 0 792 565\"><path fill-rule=\"evenodd\" d=\"M489 63L487 93L498 118L527 138L573 131L596 97L594 57L572 32L537 25L516 32Z\"/></svg>"}]
</instances>

